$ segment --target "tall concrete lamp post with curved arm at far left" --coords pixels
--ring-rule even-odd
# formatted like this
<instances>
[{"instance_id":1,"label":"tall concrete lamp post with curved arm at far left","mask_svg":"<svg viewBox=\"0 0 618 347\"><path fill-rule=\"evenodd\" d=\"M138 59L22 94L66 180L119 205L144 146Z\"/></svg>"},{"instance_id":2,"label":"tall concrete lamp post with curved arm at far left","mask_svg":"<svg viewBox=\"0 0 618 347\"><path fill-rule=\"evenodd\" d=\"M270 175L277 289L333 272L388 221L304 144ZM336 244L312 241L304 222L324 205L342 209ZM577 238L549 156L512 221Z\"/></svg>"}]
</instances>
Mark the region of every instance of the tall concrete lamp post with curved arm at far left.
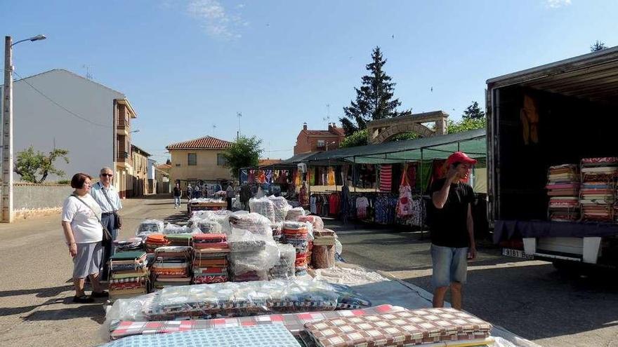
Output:
<instances>
[{"instance_id":1,"label":"tall concrete lamp post with curved arm at far left","mask_svg":"<svg viewBox=\"0 0 618 347\"><path fill-rule=\"evenodd\" d=\"M2 108L2 222L13 222L13 46L24 41L40 41L45 35L13 43L4 37L4 102Z\"/></svg>"}]
</instances>

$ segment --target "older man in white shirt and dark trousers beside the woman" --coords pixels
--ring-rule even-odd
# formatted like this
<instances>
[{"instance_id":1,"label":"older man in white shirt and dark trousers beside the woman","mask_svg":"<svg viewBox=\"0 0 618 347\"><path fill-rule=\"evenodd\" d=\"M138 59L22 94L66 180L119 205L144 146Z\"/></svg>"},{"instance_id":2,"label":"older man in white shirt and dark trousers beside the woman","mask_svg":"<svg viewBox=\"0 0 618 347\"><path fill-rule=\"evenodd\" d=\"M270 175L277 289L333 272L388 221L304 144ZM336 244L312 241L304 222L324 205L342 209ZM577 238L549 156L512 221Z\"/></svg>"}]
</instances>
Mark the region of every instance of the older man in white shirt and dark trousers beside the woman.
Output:
<instances>
[{"instance_id":1,"label":"older man in white shirt and dark trousers beside the woman","mask_svg":"<svg viewBox=\"0 0 618 347\"><path fill-rule=\"evenodd\" d=\"M103 271L100 273L101 280L107 280L108 266L110 257L114 252L112 241L116 240L118 230L121 227L121 219L118 211L122 208L118 191L112 184L114 173L110 168L102 168L99 176L99 182L94 184L91 189L91 196L101 207L101 224L107 228L112 234L112 240L109 242L103 241L103 259L101 266Z\"/></svg>"}]
</instances>

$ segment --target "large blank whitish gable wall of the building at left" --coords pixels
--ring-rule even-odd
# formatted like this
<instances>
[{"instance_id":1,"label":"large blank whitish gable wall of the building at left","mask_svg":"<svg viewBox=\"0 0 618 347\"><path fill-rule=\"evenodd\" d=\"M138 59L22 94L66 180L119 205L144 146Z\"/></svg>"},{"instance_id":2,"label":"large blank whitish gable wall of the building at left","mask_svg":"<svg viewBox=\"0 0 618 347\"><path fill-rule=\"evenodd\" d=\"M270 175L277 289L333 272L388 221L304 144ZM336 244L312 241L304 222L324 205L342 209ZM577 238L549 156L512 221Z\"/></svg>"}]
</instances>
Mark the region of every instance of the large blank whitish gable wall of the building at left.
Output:
<instances>
[{"instance_id":1,"label":"large blank whitish gable wall of the building at left","mask_svg":"<svg viewBox=\"0 0 618 347\"><path fill-rule=\"evenodd\" d=\"M15 159L19 151L31 145L35 151L51 151L55 140L56 148L69 151L70 163L56 161L56 167L65 171L65 177L50 175L48 181L71 179L76 172L98 177L103 166L114 167L114 99L124 98L124 95L62 69L27 77L26 81L66 109L100 125L73 116L25 81L15 81Z\"/></svg>"}]
</instances>

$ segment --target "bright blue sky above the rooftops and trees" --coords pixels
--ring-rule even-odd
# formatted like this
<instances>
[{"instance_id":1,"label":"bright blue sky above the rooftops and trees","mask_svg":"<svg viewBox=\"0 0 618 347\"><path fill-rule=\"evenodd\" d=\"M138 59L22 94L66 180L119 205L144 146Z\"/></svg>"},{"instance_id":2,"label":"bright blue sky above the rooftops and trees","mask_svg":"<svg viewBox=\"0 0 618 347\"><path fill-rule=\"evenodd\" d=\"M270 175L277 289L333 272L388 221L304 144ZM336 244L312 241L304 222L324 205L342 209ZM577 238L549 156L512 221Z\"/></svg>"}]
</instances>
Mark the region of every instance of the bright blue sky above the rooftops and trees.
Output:
<instances>
[{"instance_id":1,"label":"bright blue sky above the rooftops and trees","mask_svg":"<svg viewBox=\"0 0 618 347\"><path fill-rule=\"evenodd\" d=\"M15 47L20 76L87 65L129 97L133 143L157 161L172 142L232 140L237 112L263 157L291 156L303 122L338 121L375 46L402 109L458 119L491 77L618 45L618 1L4 0L0 12L5 35L48 36Z\"/></svg>"}]
</instances>

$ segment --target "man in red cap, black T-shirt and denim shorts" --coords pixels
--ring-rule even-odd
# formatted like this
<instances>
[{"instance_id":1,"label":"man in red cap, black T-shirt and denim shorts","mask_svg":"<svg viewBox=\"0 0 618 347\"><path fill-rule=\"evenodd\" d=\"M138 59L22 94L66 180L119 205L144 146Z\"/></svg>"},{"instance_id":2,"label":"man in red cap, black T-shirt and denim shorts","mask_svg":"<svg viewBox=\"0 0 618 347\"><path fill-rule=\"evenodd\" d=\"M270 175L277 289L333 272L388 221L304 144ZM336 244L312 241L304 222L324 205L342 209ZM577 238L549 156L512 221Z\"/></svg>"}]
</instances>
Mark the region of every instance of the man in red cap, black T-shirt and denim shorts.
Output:
<instances>
[{"instance_id":1,"label":"man in red cap, black T-shirt and denim shorts","mask_svg":"<svg viewBox=\"0 0 618 347\"><path fill-rule=\"evenodd\" d=\"M474 199L468 181L476 160L463 152L447 159L447 175L431 185L428 204L433 262L433 307L444 306L451 289L451 304L461 310L461 287L466 283L468 259L476 257L471 203Z\"/></svg>"}]
</instances>

